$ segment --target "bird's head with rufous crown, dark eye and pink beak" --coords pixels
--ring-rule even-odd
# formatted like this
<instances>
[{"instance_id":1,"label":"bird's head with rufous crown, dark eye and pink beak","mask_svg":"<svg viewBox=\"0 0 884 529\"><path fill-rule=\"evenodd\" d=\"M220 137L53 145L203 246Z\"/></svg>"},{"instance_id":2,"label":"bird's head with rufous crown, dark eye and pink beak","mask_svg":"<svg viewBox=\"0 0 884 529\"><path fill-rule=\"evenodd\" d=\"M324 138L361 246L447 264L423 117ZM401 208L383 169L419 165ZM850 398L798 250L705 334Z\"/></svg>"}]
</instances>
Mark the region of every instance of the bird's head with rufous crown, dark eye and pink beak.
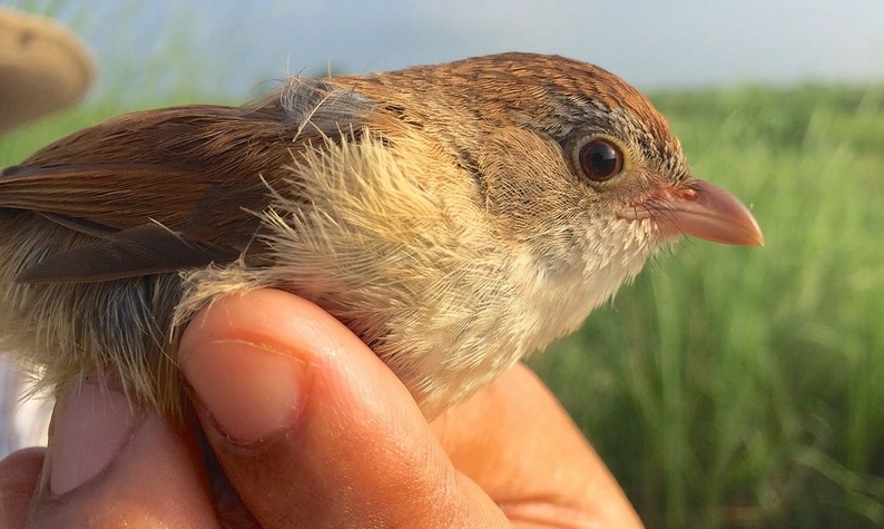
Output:
<instances>
[{"instance_id":1,"label":"bird's head with rufous crown, dark eye and pink beak","mask_svg":"<svg viewBox=\"0 0 884 529\"><path fill-rule=\"evenodd\" d=\"M513 237L612 259L632 248L642 261L681 235L763 244L746 207L690 175L666 119L619 77L533 53L430 68L411 75L429 79L428 91L446 90L431 97L456 116L440 134L455 138L489 212Z\"/></svg>"}]
</instances>

